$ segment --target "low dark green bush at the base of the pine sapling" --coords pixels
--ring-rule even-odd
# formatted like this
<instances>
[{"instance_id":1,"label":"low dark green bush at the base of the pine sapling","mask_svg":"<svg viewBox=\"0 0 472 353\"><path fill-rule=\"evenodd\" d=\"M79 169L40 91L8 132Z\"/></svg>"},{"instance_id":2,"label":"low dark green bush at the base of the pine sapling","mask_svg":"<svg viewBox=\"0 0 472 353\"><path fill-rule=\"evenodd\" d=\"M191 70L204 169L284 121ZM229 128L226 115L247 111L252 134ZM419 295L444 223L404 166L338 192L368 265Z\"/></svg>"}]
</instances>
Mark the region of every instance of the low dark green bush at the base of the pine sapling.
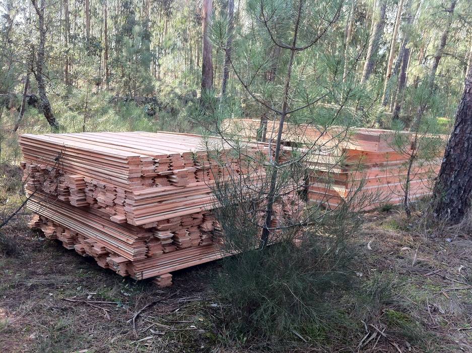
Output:
<instances>
[{"instance_id":1,"label":"low dark green bush at the base of the pine sapling","mask_svg":"<svg viewBox=\"0 0 472 353\"><path fill-rule=\"evenodd\" d=\"M348 248L329 237L347 234L324 230L305 230L299 246L283 242L224 260L216 288L235 307L228 320L239 324L232 329L279 337L297 330L314 340L329 340L328 332L340 329L335 303L351 288L353 274Z\"/></svg>"}]
</instances>

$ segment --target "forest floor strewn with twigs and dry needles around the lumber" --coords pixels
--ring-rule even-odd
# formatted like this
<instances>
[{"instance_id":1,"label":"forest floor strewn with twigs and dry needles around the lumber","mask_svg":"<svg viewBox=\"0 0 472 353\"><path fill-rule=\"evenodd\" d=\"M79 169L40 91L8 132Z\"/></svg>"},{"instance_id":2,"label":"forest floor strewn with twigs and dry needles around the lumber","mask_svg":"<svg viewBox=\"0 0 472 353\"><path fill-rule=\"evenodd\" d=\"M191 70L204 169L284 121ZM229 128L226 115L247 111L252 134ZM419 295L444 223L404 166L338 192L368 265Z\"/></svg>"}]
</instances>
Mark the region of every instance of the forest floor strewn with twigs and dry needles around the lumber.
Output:
<instances>
[{"instance_id":1,"label":"forest floor strewn with twigs and dry needles around the lumber","mask_svg":"<svg viewBox=\"0 0 472 353\"><path fill-rule=\"evenodd\" d=\"M353 323L347 339L294 334L283 343L231 331L231 308L212 289L219 262L176 272L161 289L104 270L15 220L3 229L17 250L0 257L0 351L472 351L472 240L411 232L394 209L366 218L353 239L353 271L365 287L377 286L375 318Z\"/></svg>"}]
</instances>

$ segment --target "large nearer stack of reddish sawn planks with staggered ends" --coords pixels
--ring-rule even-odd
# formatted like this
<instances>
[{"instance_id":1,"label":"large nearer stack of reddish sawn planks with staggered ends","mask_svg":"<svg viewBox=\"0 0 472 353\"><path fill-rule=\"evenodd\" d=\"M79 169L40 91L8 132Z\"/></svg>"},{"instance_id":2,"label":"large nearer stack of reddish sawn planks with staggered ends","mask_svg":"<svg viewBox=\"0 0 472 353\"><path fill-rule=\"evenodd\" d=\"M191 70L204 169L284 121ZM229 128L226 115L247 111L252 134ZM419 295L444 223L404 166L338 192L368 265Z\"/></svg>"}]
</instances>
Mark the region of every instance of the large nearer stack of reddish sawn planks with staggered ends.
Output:
<instances>
[{"instance_id":1,"label":"large nearer stack of reddish sawn planks with staggered ends","mask_svg":"<svg viewBox=\"0 0 472 353\"><path fill-rule=\"evenodd\" d=\"M231 173L244 177L254 164L226 155L220 139L203 141L144 132L22 135L36 213L30 226L120 275L170 285L169 272L223 256L211 185ZM224 165L209 156L210 143ZM269 153L266 144L245 148L254 157Z\"/></svg>"}]
</instances>

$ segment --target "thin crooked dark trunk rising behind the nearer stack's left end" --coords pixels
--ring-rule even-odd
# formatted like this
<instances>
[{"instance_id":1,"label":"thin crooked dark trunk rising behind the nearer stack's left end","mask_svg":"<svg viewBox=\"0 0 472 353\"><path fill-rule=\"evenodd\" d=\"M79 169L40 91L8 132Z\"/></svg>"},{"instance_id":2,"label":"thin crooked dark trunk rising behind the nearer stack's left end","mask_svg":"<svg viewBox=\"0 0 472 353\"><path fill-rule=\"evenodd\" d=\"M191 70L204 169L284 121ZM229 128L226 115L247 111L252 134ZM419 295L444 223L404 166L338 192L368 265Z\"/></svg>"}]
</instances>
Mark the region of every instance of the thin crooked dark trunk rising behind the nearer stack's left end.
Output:
<instances>
[{"instance_id":1,"label":"thin crooked dark trunk rising behind the nearer stack's left end","mask_svg":"<svg viewBox=\"0 0 472 353\"><path fill-rule=\"evenodd\" d=\"M38 92L39 98L41 100L41 107L43 110L44 117L46 118L47 122L53 129L59 129L59 125L56 122L54 114L52 113L51 103L49 103L49 99L47 99L46 94L46 82L44 81L44 50L46 45L46 25L44 23L44 13L46 10L46 0L41 0L41 5L38 6L36 0L31 0L31 3L34 6L36 14L38 15L38 27L39 27L39 47L38 53L36 57L36 70L33 71L34 77L36 82L38 83Z\"/></svg>"}]
</instances>

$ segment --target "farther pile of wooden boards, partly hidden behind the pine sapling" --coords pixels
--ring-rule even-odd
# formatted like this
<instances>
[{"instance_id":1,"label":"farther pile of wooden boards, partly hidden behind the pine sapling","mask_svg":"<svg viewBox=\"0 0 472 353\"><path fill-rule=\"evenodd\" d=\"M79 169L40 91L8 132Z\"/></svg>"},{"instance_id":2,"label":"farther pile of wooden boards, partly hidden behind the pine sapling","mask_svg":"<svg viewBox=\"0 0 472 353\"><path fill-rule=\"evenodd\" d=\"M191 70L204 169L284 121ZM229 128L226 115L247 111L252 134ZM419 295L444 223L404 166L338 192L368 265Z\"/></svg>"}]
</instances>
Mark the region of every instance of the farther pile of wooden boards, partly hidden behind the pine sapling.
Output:
<instances>
[{"instance_id":1,"label":"farther pile of wooden boards, partly hidden behind the pine sapling","mask_svg":"<svg viewBox=\"0 0 472 353\"><path fill-rule=\"evenodd\" d=\"M276 139L278 128L278 121L267 122L268 141ZM228 119L223 129L244 140L255 141L260 120ZM441 158L415 160L409 172L412 136L409 132L390 130L325 129L285 123L282 141L288 146L313 149L305 158L311 168L310 202L334 209L349 200L355 207L368 210L381 204L400 204L408 173L410 200L431 193ZM399 146L399 141L404 145Z\"/></svg>"}]
</instances>

